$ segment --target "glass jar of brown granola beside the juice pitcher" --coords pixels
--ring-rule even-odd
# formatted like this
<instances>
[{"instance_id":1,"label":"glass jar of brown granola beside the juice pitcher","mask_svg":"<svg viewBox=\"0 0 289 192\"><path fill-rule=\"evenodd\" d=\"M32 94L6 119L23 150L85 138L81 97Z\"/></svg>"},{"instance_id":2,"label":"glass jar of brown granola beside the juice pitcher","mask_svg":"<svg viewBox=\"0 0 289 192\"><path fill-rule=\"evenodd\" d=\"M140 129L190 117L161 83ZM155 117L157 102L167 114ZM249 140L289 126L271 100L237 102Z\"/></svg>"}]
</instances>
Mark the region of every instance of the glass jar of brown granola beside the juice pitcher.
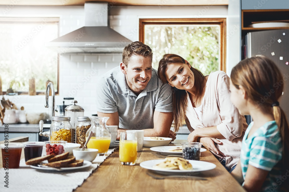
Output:
<instances>
[{"instance_id":1,"label":"glass jar of brown granola beside the juice pitcher","mask_svg":"<svg viewBox=\"0 0 289 192\"><path fill-rule=\"evenodd\" d=\"M81 145L79 148L82 148L86 142L85 135L90 126L91 120L88 117L77 117L75 141Z\"/></svg>"}]
</instances>

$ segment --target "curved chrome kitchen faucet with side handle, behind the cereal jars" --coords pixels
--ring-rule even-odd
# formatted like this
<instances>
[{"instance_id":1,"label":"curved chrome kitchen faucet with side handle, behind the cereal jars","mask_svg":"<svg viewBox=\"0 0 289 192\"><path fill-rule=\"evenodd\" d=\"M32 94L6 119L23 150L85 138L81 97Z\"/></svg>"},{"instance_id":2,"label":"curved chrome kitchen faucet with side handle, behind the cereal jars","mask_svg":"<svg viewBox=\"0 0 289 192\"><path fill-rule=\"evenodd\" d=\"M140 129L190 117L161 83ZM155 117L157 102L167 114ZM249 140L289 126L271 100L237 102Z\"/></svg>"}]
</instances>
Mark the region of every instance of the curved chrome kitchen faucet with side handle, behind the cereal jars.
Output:
<instances>
[{"instance_id":1,"label":"curved chrome kitchen faucet with side handle, behind the cereal jars","mask_svg":"<svg viewBox=\"0 0 289 192\"><path fill-rule=\"evenodd\" d=\"M48 83L47 88L46 88L45 108L49 107L48 96L49 96L50 89L51 89L51 96L52 96L52 103L51 103L52 104L51 122L52 122L52 117L54 117L54 114L55 114L55 111L54 111L54 109L55 109L55 91L54 91L53 84L51 82ZM49 137L50 131L43 132L43 121L42 120L39 122L39 130L40 130L40 133L39 133L40 136Z\"/></svg>"}]
</instances>

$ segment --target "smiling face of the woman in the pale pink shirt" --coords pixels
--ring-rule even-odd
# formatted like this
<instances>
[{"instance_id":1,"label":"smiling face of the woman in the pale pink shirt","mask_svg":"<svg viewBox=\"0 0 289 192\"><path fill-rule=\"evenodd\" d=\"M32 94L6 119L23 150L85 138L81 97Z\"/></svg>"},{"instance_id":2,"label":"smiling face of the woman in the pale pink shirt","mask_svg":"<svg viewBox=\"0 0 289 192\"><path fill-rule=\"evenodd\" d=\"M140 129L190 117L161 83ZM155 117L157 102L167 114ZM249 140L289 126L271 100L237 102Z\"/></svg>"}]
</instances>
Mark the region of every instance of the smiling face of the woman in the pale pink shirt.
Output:
<instances>
[{"instance_id":1,"label":"smiling face of the woman in the pale pink shirt","mask_svg":"<svg viewBox=\"0 0 289 192\"><path fill-rule=\"evenodd\" d=\"M165 75L168 84L181 90L190 90L194 87L194 74L191 65L184 63L172 63L168 65Z\"/></svg>"}]
</instances>

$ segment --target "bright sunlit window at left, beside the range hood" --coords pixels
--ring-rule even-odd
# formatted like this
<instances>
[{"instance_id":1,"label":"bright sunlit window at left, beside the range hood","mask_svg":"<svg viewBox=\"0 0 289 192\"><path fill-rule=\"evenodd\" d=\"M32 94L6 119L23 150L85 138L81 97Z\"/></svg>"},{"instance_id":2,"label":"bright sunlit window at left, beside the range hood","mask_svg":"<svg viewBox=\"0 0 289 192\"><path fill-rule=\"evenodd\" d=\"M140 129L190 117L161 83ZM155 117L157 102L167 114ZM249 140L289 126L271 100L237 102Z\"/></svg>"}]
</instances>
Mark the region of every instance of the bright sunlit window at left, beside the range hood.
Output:
<instances>
[{"instance_id":1,"label":"bright sunlit window at left, beside the range hood","mask_svg":"<svg viewBox=\"0 0 289 192\"><path fill-rule=\"evenodd\" d=\"M44 94L49 81L58 93L58 54L45 47L58 37L58 23L59 18L0 18L3 94L28 94L33 85Z\"/></svg>"}]
</instances>

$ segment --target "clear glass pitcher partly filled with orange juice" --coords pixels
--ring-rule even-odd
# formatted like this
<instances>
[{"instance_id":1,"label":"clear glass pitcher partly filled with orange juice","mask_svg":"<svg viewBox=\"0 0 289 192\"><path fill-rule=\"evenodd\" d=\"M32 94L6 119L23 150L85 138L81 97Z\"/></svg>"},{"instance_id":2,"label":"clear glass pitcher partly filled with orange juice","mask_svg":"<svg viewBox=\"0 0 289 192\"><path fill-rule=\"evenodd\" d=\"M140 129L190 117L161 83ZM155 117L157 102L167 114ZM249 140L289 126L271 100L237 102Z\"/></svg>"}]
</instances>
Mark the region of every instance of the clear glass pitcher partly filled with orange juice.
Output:
<instances>
[{"instance_id":1,"label":"clear glass pitcher partly filled with orange juice","mask_svg":"<svg viewBox=\"0 0 289 192\"><path fill-rule=\"evenodd\" d=\"M90 132L92 137L87 143L87 148L98 149L98 153L107 153L110 145L111 134L106 126L109 117L89 117L91 126L86 132L86 139Z\"/></svg>"}]
</instances>

